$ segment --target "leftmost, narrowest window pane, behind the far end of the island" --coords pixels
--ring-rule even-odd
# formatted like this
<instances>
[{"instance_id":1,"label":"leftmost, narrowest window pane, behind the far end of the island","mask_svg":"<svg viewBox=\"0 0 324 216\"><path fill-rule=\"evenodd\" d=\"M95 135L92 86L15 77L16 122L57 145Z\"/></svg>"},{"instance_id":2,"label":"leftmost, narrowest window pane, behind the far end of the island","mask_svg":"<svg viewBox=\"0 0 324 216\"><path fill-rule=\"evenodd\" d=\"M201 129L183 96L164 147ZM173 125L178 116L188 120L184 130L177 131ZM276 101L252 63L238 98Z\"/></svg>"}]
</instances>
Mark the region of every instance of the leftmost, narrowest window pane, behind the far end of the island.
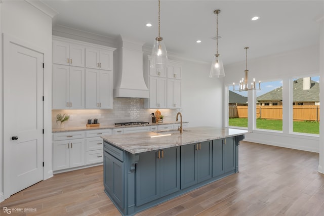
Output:
<instances>
[{"instance_id":1,"label":"leftmost, narrowest window pane, behind the far end of the island","mask_svg":"<svg viewBox=\"0 0 324 216\"><path fill-rule=\"evenodd\" d=\"M248 94L246 91L233 91L230 86L228 91L228 125L248 127ZM239 86L235 85L234 90Z\"/></svg>"}]
</instances>

